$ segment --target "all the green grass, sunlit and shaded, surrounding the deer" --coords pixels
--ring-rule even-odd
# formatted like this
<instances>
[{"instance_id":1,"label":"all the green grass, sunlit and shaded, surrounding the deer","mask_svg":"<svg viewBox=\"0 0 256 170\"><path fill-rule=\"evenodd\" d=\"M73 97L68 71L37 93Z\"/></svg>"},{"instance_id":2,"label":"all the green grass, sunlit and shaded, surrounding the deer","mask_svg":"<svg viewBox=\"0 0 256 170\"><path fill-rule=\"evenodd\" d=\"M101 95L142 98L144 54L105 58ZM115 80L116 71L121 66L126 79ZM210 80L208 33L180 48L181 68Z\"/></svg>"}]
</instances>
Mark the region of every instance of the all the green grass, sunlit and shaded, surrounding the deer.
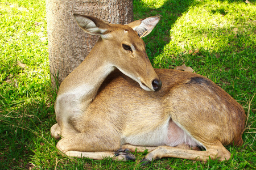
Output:
<instances>
[{"instance_id":1,"label":"all the green grass, sunlit and shaded, surrounding the deer","mask_svg":"<svg viewBox=\"0 0 256 170\"><path fill-rule=\"evenodd\" d=\"M154 67L185 65L221 86L248 115L244 144L226 147L229 162L164 158L141 167L112 159L69 159L57 154L49 129L56 92L49 80L44 1L0 0L0 169L255 169L256 2L134 1L134 19L159 15L144 38Z\"/></svg>"}]
</instances>

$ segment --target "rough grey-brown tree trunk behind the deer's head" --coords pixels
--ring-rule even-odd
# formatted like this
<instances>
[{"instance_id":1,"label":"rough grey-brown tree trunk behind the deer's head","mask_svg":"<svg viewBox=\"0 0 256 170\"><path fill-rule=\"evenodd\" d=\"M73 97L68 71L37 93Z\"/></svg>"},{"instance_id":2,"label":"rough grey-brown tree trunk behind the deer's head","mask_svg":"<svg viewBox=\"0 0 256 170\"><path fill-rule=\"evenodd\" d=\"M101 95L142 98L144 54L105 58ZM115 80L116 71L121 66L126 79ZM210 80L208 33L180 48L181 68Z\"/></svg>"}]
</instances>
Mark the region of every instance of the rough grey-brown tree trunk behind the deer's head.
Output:
<instances>
[{"instance_id":1,"label":"rough grey-brown tree trunk behind the deer's head","mask_svg":"<svg viewBox=\"0 0 256 170\"><path fill-rule=\"evenodd\" d=\"M60 83L92 50L97 36L86 34L73 13L90 15L112 24L133 22L132 0L46 0L49 66L52 86ZM56 79L54 75L59 74Z\"/></svg>"}]
</instances>

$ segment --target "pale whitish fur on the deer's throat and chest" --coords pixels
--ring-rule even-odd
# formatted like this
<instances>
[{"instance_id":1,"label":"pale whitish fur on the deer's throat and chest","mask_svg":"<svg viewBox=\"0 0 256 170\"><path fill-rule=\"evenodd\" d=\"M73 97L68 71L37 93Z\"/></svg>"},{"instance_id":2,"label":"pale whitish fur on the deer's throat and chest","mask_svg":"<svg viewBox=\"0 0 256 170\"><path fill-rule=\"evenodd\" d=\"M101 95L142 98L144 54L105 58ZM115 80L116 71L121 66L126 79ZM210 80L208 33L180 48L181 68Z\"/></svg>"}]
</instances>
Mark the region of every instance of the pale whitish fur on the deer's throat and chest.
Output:
<instances>
[{"instance_id":1,"label":"pale whitish fur on the deer's throat and chest","mask_svg":"<svg viewBox=\"0 0 256 170\"><path fill-rule=\"evenodd\" d=\"M71 86L69 83L66 83L67 87L62 89L64 92L58 95L56 99L56 116L60 114L65 120L65 118L71 115L73 118L85 112L90 102L96 96L101 83L113 70L112 64L105 63L102 66L97 66L93 73L88 74L88 71L85 71L85 75L80 75L81 79L84 79L83 77L85 76L88 82L77 82L75 87L73 87L73 84ZM77 73L76 76L79 76L79 72L76 71L75 73Z\"/></svg>"}]
</instances>

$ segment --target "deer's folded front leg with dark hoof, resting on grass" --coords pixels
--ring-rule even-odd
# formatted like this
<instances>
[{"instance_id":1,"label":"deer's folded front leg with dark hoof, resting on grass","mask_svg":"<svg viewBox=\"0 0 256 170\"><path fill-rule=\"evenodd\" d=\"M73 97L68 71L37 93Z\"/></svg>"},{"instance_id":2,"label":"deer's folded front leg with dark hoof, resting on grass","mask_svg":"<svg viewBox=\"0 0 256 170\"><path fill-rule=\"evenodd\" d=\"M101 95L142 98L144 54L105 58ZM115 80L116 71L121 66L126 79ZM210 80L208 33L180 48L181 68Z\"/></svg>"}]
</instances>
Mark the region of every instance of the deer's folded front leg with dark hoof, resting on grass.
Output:
<instances>
[{"instance_id":1,"label":"deer's folded front leg with dark hoof, resting on grass","mask_svg":"<svg viewBox=\"0 0 256 170\"><path fill-rule=\"evenodd\" d=\"M90 159L113 158L115 160L135 160L135 156L127 151L118 151L120 140L117 137L105 135L90 135L77 133L68 138L62 138L56 146L62 155L71 157L86 157Z\"/></svg>"}]
</instances>

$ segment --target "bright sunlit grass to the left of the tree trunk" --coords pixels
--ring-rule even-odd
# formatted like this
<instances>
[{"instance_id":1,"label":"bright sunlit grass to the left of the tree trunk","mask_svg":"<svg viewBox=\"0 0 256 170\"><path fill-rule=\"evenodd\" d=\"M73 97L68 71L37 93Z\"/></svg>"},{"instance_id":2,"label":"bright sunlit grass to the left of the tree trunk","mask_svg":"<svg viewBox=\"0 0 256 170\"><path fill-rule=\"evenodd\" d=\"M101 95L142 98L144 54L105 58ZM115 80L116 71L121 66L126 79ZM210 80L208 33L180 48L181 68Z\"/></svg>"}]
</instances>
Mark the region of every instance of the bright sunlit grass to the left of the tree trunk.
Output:
<instances>
[{"instance_id":1,"label":"bright sunlit grass to the left of the tree trunk","mask_svg":"<svg viewBox=\"0 0 256 170\"><path fill-rule=\"evenodd\" d=\"M25 3L26 4L26 3ZM48 42L42 4L1 2L1 104L14 106L42 96L49 79ZM40 12L34 12L41 10ZM13 107L6 107L13 108ZM15 108L15 107L14 107Z\"/></svg>"}]
</instances>

